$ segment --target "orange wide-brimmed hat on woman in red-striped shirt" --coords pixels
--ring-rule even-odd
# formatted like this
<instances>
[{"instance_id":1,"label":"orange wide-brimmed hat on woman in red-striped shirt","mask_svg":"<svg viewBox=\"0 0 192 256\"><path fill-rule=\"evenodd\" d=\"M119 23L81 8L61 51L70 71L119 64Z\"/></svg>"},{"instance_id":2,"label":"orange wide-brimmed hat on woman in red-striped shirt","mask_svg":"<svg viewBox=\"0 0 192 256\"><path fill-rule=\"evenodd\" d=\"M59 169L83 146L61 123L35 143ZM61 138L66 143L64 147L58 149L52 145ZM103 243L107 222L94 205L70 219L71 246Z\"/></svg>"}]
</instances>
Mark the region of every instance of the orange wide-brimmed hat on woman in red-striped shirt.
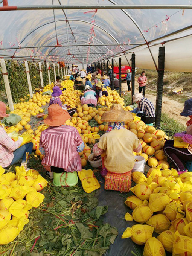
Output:
<instances>
[{"instance_id":1,"label":"orange wide-brimmed hat on woman in red-striped shirt","mask_svg":"<svg viewBox=\"0 0 192 256\"><path fill-rule=\"evenodd\" d=\"M61 126L70 119L70 114L63 110L58 104L52 104L48 107L48 116L44 123L50 126Z\"/></svg>"}]
</instances>

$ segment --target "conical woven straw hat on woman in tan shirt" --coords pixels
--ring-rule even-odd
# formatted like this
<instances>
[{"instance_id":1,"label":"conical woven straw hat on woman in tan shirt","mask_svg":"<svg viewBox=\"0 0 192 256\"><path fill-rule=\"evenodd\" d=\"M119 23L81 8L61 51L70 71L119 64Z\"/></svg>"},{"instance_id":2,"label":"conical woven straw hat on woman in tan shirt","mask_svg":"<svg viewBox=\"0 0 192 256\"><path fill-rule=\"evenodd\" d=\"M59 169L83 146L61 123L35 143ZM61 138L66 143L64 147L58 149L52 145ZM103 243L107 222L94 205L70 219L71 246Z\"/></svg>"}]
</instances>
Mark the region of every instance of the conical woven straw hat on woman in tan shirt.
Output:
<instances>
[{"instance_id":1,"label":"conical woven straw hat on woman in tan shirt","mask_svg":"<svg viewBox=\"0 0 192 256\"><path fill-rule=\"evenodd\" d=\"M129 111L125 111L121 104L114 104L110 111L103 113L102 122L128 122L133 121L133 115Z\"/></svg>"}]
</instances>

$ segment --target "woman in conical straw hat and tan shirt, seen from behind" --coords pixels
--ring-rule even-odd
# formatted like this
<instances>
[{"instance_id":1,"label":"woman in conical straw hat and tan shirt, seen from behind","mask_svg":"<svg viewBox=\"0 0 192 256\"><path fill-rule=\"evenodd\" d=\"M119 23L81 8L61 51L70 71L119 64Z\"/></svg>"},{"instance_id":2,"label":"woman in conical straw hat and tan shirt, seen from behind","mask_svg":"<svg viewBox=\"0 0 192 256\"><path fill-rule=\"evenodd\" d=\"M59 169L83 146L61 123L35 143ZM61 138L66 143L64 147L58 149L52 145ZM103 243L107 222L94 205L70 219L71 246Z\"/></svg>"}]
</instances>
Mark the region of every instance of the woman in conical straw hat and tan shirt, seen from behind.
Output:
<instances>
[{"instance_id":1,"label":"woman in conical straw hat and tan shirt, seen from behind","mask_svg":"<svg viewBox=\"0 0 192 256\"><path fill-rule=\"evenodd\" d=\"M132 120L133 115L123 110L120 104L114 104L101 117L101 121L108 122L109 126L94 145L93 152L95 155L106 154L102 158L102 167L109 172L123 174L131 171L135 163L133 151L139 152L142 149L136 135L125 128L125 122Z\"/></svg>"}]
</instances>

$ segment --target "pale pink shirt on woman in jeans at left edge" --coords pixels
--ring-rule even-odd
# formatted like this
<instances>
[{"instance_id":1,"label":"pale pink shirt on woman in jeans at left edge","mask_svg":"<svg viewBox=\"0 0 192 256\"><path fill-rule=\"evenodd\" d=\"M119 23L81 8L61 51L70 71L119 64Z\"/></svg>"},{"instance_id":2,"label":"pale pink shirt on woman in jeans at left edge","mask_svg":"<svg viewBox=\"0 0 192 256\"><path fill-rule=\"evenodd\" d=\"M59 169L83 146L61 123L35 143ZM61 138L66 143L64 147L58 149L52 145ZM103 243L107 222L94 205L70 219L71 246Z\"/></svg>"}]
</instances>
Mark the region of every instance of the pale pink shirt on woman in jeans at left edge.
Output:
<instances>
[{"instance_id":1,"label":"pale pink shirt on woman in jeans at left edge","mask_svg":"<svg viewBox=\"0 0 192 256\"><path fill-rule=\"evenodd\" d=\"M7 167L14 158L13 151L21 145L21 140L14 141L7 135L3 126L0 126L0 166Z\"/></svg>"}]
</instances>

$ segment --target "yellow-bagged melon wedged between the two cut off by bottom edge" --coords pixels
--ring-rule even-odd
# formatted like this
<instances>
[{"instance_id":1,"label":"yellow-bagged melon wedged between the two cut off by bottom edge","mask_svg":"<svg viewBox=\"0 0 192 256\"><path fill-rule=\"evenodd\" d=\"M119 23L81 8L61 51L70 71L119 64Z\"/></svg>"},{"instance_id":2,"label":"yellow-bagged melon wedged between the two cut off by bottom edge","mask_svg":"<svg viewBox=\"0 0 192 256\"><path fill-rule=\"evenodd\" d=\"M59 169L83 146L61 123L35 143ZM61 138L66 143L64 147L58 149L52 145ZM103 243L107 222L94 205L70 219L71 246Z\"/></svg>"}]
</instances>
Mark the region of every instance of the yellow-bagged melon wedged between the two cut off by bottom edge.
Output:
<instances>
[{"instance_id":1,"label":"yellow-bagged melon wedged between the two cut off by bottom edge","mask_svg":"<svg viewBox=\"0 0 192 256\"><path fill-rule=\"evenodd\" d=\"M157 236L158 241L160 241L165 248L166 251L172 253L173 250L173 242L175 239L175 232L171 230L165 230Z\"/></svg>"}]
</instances>

